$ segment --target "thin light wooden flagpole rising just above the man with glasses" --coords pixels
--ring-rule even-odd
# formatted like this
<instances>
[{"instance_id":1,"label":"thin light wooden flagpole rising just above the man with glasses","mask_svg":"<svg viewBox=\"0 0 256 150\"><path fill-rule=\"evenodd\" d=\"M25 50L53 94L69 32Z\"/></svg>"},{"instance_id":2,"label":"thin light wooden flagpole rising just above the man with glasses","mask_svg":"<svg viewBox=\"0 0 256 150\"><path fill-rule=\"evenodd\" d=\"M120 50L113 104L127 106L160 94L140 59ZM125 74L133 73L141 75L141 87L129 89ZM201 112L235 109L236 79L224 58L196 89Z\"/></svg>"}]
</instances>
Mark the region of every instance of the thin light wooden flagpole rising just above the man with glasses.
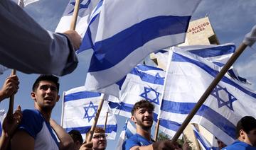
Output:
<instances>
[{"instance_id":1,"label":"thin light wooden flagpole rising just above the man with glasses","mask_svg":"<svg viewBox=\"0 0 256 150\"><path fill-rule=\"evenodd\" d=\"M96 127L96 125L97 125L97 120L98 120L99 117L100 117L100 111L102 110L102 105L103 105L103 103L104 103L104 96L105 96L104 93L102 93L102 94L100 95L100 104L99 104L99 106L98 106L98 108L97 108L97 113L96 113L96 115L95 115L95 120L93 120L93 122L92 122L92 127L91 127L91 129L90 129L90 132L89 132L89 134L88 134L88 137L86 137L86 138L87 138L86 142L91 142L91 141L92 141L92 135L93 135L93 133L94 133L94 131L95 131L95 127Z\"/></svg>"}]
</instances>

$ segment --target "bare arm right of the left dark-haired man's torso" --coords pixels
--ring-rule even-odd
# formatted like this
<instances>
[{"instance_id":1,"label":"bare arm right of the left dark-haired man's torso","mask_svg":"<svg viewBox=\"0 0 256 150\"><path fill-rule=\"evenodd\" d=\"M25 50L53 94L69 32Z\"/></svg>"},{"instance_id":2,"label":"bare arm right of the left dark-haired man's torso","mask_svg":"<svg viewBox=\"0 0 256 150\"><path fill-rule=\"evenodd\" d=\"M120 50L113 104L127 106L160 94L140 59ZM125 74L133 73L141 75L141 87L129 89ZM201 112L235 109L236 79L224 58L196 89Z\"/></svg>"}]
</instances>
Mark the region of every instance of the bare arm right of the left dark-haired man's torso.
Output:
<instances>
[{"instance_id":1,"label":"bare arm right of the left dark-haired man's torso","mask_svg":"<svg viewBox=\"0 0 256 150\"><path fill-rule=\"evenodd\" d=\"M55 120L50 119L50 126L54 129L55 133L57 134L58 138L60 139L60 149L73 149L74 142L70 134L65 132L63 127L60 127Z\"/></svg>"}]
</instances>

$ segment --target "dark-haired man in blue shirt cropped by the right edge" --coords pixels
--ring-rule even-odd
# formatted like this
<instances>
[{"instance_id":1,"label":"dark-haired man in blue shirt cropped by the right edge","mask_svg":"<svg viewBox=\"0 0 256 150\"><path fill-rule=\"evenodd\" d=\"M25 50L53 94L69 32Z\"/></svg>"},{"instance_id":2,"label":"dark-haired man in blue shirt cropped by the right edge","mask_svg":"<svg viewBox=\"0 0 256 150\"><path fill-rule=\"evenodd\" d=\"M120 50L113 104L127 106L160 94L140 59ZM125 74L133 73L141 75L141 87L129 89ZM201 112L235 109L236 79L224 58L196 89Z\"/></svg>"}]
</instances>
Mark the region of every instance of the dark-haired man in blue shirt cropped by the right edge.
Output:
<instances>
[{"instance_id":1,"label":"dark-haired man in blue shirt cropped by the right edge","mask_svg":"<svg viewBox=\"0 0 256 150\"><path fill-rule=\"evenodd\" d=\"M252 116L242 117L238 121L236 127L236 134L238 140L236 140L230 146L223 148L224 150L255 150L256 149L256 120Z\"/></svg>"}]
</instances>

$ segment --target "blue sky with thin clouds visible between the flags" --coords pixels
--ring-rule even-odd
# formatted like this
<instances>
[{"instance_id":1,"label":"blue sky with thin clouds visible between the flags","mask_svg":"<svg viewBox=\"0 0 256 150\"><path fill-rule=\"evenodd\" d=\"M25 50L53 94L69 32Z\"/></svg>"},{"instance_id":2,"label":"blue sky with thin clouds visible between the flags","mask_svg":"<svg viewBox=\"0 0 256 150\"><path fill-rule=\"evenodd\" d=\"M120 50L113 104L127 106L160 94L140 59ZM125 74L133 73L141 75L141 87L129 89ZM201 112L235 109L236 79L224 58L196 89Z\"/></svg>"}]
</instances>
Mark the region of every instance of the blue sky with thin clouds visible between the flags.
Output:
<instances>
[{"instance_id":1,"label":"blue sky with thin clouds visible between the flags","mask_svg":"<svg viewBox=\"0 0 256 150\"><path fill-rule=\"evenodd\" d=\"M30 14L43 28L53 31L58 25L63 11L69 0L40 0L36 3L26 6L25 11ZM220 41L220 44L234 42L238 47L245 34L250 32L253 25L256 24L256 1L255 0L202 0L197 10L192 16L192 21L198 18L208 16L210 23ZM256 46L247 47L245 52L235 62L235 68L238 69L240 76L245 77L252 83L250 88L256 90ZM52 117L60 123L61 100L63 91L70 88L82 86L85 82L86 72L89 65L91 52L82 52L78 55L78 68L72 74L60 77L60 101L55 105ZM43 62L42 62L43 65ZM11 70L5 71L0 75L0 83L4 83ZM33 108L33 100L30 98L31 86L36 80L37 74L23 74L18 72L20 88L15 95L14 107L18 104L22 109ZM0 108L8 110L9 100L0 103ZM119 132L124 126L124 117L117 117L118 132L116 140L108 142L107 149L114 148L119 139Z\"/></svg>"}]
</instances>

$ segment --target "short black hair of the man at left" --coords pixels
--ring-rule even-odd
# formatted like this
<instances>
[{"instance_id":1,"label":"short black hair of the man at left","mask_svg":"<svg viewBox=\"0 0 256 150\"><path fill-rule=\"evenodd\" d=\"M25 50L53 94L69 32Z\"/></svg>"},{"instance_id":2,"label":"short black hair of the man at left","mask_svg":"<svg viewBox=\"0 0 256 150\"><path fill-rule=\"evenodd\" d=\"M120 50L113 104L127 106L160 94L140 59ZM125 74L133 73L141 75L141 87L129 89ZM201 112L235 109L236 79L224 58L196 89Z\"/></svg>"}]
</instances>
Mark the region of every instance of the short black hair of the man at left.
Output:
<instances>
[{"instance_id":1,"label":"short black hair of the man at left","mask_svg":"<svg viewBox=\"0 0 256 150\"><path fill-rule=\"evenodd\" d=\"M36 81L33 83L33 86L32 86L32 91L33 92L36 91L36 88L38 88L39 83L41 81L52 81L53 83L55 83L55 85L57 86L57 90L59 91L60 83L58 83L58 77L57 76L41 74L40 76L38 76Z\"/></svg>"}]
</instances>

